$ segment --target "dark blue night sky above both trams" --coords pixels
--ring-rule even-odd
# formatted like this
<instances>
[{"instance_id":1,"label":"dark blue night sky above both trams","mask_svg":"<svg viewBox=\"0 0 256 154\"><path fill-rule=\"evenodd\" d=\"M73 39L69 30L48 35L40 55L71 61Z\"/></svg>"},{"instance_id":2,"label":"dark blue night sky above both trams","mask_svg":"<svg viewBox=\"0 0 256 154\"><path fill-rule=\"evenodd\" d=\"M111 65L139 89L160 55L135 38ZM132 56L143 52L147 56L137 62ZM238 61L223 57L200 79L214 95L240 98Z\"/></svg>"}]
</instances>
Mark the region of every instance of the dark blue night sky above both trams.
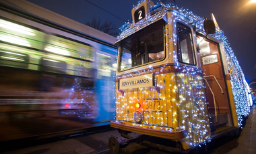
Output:
<instances>
[{"instance_id":1,"label":"dark blue night sky above both trams","mask_svg":"<svg viewBox=\"0 0 256 154\"><path fill-rule=\"evenodd\" d=\"M28 0L36 5L69 17L80 23L99 17L113 21L117 29L129 20L132 22L131 9L138 0ZM154 4L159 0L153 0ZM174 3L192 11L195 15L206 16L214 13L218 25L224 31L238 62L243 69L247 82L256 82L256 3L251 0L166 0L164 3ZM121 18L121 19L120 19Z\"/></svg>"}]
</instances>

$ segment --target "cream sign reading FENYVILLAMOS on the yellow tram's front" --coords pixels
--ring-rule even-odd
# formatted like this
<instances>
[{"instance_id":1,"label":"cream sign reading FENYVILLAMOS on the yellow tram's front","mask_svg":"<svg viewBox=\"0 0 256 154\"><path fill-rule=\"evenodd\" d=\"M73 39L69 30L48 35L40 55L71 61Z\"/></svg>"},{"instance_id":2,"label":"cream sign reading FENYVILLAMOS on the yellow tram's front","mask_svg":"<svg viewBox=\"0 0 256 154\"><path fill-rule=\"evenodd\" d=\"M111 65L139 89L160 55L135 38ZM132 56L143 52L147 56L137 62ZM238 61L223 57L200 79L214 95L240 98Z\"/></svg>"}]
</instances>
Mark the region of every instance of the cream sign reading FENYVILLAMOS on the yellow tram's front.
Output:
<instances>
[{"instance_id":1,"label":"cream sign reading FENYVILLAMOS on the yellow tram's front","mask_svg":"<svg viewBox=\"0 0 256 154\"><path fill-rule=\"evenodd\" d=\"M154 74L146 74L133 78L123 78L119 80L119 89L142 88L154 86Z\"/></svg>"}]
</instances>

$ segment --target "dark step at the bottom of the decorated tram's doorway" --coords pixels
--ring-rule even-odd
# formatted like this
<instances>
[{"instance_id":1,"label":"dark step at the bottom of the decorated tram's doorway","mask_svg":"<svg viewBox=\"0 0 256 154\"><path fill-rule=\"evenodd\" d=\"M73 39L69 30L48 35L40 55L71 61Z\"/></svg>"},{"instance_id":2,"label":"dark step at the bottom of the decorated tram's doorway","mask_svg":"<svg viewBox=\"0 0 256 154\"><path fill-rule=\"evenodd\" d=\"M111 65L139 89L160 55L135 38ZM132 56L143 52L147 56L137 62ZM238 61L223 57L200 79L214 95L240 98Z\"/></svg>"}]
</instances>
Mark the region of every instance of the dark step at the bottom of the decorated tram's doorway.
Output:
<instances>
[{"instance_id":1,"label":"dark step at the bottom of the decorated tram's doorway","mask_svg":"<svg viewBox=\"0 0 256 154\"><path fill-rule=\"evenodd\" d=\"M209 121L210 121L210 128L211 131L215 131L218 127L223 127L228 123L228 114L227 113L218 113L218 121L215 121L215 114L210 112L209 114Z\"/></svg>"}]
</instances>

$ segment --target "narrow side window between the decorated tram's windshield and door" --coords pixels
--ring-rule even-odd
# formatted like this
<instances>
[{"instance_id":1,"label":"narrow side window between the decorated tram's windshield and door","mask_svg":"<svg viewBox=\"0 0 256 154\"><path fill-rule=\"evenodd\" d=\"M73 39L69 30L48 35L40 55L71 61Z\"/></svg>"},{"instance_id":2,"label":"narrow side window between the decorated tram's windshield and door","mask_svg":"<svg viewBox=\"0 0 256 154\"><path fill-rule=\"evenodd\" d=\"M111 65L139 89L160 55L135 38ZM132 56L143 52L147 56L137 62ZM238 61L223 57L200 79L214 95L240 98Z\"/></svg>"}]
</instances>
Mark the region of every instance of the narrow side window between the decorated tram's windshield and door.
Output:
<instances>
[{"instance_id":1,"label":"narrow side window between the decorated tram's windshield and door","mask_svg":"<svg viewBox=\"0 0 256 154\"><path fill-rule=\"evenodd\" d=\"M177 23L177 37L179 62L195 65L191 29L182 23Z\"/></svg>"}]
</instances>

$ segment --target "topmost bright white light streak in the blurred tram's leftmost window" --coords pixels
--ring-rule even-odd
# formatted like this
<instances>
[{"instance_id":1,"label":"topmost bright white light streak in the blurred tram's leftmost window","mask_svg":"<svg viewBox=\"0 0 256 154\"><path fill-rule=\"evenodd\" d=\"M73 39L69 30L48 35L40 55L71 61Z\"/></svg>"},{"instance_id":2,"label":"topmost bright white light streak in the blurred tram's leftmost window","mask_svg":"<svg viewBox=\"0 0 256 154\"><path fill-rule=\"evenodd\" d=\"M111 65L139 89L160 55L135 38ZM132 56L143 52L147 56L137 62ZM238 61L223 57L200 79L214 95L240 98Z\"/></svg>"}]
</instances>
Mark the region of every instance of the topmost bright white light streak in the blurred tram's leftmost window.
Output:
<instances>
[{"instance_id":1,"label":"topmost bright white light streak in the blurred tram's leftmost window","mask_svg":"<svg viewBox=\"0 0 256 154\"><path fill-rule=\"evenodd\" d=\"M33 33L33 30L28 27L24 27L24 26L18 25L16 23L11 23L11 22L5 21L3 19L0 19L0 27L10 29L12 31L17 31L20 33L25 33L28 35L36 35L35 33Z\"/></svg>"}]
</instances>

